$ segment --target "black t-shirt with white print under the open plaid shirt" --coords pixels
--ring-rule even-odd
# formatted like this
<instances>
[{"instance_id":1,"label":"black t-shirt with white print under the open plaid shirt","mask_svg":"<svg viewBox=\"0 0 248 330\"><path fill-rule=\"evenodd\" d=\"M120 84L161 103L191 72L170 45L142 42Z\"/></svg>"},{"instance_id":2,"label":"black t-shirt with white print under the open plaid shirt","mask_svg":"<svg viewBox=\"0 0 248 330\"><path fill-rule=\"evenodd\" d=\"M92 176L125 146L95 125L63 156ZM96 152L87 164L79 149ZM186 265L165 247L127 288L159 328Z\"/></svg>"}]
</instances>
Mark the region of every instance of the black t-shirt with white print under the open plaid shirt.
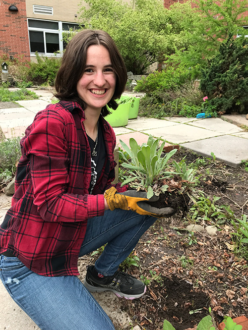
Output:
<instances>
[{"instance_id":1,"label":"black t-shirt with white print under the open plaid shirt","mask_svg":"<svg viewBox=\"0 0 248 330\"><path fill-rule=\"evenodd\" d=\"M106 159L106 146L103 138L103 127L101 125L101 122L99 121L98 125L98 140L96 145L96 156L92 156L92 151L95 147L96 142L91 139L91 137L88 136L87 138L90 145L90 152L91 152L91 180L90 180L90 186L89 186L89 194L92 194L92 190L96 184L96 181L99 179L103 165L105 163Z\"/></svg>"}]
</instances>

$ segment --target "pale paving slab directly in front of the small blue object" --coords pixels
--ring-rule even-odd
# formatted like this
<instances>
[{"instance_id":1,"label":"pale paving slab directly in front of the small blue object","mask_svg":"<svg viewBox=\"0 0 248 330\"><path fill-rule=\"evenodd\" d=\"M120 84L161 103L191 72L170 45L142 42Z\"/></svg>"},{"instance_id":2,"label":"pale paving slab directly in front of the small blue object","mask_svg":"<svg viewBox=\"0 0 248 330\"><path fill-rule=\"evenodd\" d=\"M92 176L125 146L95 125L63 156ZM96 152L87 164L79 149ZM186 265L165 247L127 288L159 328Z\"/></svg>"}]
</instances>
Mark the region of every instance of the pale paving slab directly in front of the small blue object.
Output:
<instances>
[{"instance_id":1,"label":"pale paving slab directly in front of the small blue object","mask_svg":"<svg viewBox=\"0 0 248 330\"><path fill-rule=\"evenodd\" d=\"M242 132L242 129L237 125L224 121L221 118L206 118L198 121L187 122L188 125L206 128L210 131L232 134L236 132Z\"/></svg>"}]
</instances>

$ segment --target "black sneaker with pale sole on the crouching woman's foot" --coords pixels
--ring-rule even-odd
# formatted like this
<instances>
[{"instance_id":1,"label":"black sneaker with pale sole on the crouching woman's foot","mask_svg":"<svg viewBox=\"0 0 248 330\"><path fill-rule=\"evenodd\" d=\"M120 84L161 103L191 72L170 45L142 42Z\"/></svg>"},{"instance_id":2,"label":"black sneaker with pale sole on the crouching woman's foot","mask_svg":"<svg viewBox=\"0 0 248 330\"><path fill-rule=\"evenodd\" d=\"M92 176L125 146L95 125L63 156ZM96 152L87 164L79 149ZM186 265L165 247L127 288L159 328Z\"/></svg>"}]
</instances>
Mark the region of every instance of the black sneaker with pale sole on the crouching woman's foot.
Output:
<instances>
[{"instance_id":1,"label":"black sneaker with pale sole on the crouching woman's foot","mask_svg":"<svg viewBox=\"0 0 248 330\"><path fill-rule=\"evenodd\" d=\"M83 284L90 292L112 291L125 299L140 298L146 291L145 284L131 275L117 271L113 276L103 276L94 266L88 267Z\"/></svg>"}]
</instances>

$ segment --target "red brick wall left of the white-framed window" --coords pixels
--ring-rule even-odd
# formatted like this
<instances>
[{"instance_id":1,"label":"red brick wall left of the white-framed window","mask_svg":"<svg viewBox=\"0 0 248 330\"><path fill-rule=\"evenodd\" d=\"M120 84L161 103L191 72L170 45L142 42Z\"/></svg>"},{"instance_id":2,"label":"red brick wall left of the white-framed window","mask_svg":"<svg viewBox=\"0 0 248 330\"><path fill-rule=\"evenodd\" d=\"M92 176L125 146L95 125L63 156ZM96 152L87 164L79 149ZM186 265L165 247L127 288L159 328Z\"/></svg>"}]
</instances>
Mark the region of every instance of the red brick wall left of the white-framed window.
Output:
<instances>
[{"instance_id":1,"label":"red brick wall left of the white-framed window","mask_svg":"<svg viewBox=\"0 0 248 330\"><path fill-rule=\"evenodd\" d=\"M9 11L15 5L18 11ZM30 60L25 0L0 0L0 55Z\"/></svg>"}]
</instances>

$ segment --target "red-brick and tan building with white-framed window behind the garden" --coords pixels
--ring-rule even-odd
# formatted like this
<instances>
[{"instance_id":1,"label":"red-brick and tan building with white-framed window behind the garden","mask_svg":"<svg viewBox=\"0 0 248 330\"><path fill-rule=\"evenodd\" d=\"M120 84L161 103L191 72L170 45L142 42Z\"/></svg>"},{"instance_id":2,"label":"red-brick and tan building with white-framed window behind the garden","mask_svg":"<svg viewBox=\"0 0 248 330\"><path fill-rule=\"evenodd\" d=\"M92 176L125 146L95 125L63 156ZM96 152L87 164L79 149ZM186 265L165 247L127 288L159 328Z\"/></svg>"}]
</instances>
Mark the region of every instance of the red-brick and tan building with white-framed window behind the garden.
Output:
<instances>
[{"instance_id":1,"label":"red-brick and tan building with white-framed window behind the garden","mask_svg":"<svg viewBox=\"0 0 248 330\"><path fill-rule=\"evenodd\" d=\"M124 0L130 2L132 0ZM161 0L165 8L184 0ZM196 0L197 1L197 0ZM62 55L62 32L78 27L79 0L0 1L0 56L35 60L35 52ZM196 6L192 1L192 6ZM17 10L16 10L17 9ZM248 16L248 11L245 13ZM219 18L219 17L217 17Z\"/></svg>"}]
</instances>

